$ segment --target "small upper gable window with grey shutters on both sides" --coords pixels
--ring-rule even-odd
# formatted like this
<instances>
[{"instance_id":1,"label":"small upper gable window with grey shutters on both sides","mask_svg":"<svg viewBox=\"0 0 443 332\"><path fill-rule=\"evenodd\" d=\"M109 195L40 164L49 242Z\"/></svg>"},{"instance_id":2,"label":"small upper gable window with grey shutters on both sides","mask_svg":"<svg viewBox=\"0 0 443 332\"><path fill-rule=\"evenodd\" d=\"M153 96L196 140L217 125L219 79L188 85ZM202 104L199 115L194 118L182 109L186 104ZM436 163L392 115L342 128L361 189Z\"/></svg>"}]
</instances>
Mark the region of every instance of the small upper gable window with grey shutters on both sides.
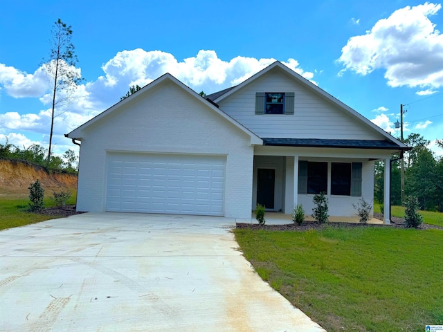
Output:
<instances>
[{"instance_id":1,"label":"small upper gable window with grey shutters on both sides","mask_svg":"<svg viewBox=\"0 0 443 332\"><path fill-rule=\"evenodd\" d=\"M293 92L257 92L255 93L255 114L293 115Z\"/></svg>"}]
</instances>

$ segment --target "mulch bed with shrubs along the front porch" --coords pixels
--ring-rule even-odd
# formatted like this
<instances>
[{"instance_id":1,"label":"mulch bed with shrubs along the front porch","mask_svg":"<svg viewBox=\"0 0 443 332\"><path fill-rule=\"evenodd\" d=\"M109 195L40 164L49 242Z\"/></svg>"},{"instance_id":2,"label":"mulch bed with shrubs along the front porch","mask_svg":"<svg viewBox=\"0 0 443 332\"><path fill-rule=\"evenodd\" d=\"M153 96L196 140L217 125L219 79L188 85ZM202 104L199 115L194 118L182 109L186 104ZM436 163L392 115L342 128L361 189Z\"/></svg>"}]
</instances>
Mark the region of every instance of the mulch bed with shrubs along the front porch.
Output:
<instances>
[{"instance_id":1,"label":"mulch bed with shrubs along the front porch","mask_svg":"<svg viewBox=\"0 0 443 332\"><path fill-rule=\"evenodd\" d=\"M374 218L383 220L383 214L374 213ZM388 228L406 228L403 218L398 218L397 216L391 217L390 225L381 225L373 223L318 223L317 221L305 221L300 226L296 223L289 223L287 225L258 225L256 223L237 223L237 229L252 229L252 230L284 230L284 231L295 231L295 232L305 232L307 230L323 230L327 227L334 228L358 228L358 227L388 227ZM429 225L427 223L422 223L419 225L419 230L429 230L437 229L443 230L443 227L437 225Z\"/></svg>"}]
</instances>

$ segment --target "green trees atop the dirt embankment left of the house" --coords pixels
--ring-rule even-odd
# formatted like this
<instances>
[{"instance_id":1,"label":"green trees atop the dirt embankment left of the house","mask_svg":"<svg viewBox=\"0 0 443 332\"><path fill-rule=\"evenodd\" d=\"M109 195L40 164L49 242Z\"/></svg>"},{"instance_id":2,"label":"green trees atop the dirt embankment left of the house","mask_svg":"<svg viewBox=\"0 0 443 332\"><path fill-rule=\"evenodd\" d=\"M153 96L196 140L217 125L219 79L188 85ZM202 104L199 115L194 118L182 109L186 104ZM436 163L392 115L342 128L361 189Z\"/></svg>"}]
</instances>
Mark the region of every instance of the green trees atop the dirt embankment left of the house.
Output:
<instances>
[{"instance_id":1,"label":"green trees atop the dirt embankment left of the house","mask_svg":"<svg viewBox=\"0 0 443 332\"><path fill-rule=\"evenodd\" d=\"M78 156L75 152L68 149L64 152L63 158L51 155L51 159L47 159L48 149L42 145L33 144L30 147L20 149L16 145L12 145L8 140L5 144L0 143L0 159L27 161L34 165L39 165L52 170L64 170L68 172L78 171Z\"/></svg>"}]
</instances>

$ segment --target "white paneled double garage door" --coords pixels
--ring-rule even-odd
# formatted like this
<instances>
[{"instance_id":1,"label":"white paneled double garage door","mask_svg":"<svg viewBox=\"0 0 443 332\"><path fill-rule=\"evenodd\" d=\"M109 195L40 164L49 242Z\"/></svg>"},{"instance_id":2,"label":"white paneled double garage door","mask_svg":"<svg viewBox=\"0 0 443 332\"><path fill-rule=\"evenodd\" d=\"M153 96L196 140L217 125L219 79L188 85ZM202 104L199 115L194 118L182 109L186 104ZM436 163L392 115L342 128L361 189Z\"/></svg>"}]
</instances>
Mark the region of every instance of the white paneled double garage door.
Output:
<instances>
[{"instance_id":1,"label":"white paneled double garage door","mask_svg":"<svg viewBox=\"0 0 443 332\"><path fill-rule=\"evenodd\" d=\"M106 210L223 216L225 160L109 154Z\"/></svg>"}]
</instances>

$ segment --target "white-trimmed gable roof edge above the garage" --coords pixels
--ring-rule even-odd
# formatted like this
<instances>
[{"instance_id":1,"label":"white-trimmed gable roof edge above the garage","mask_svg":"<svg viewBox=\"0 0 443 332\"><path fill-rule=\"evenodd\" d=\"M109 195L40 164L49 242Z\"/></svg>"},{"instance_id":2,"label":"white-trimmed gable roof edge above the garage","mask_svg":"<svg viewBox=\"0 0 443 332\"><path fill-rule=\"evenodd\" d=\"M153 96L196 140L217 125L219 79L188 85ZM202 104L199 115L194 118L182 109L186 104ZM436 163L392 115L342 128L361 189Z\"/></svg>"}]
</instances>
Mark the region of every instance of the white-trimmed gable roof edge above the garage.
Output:
<instances>
[{"instance_id":1,"label":"white-trimmed gable roof edge above the garage","mask_svg":"<svg viewBox=\"0 0 443 332\"><path fill-rule=\"evenodd\" d=\"M219 116L221 116L221 118L224 118L225 120L227 120L228 122L233 124L235 127L237 127L238 129L240 129L241 131L246 133L246 135L250 136L252 145L262 145L263 144L263 140L260 137L258 137L257 135L255 135L255 133L253 133L252 131L250 131L246 127L244 127L243 124L240 124L239 122L237 122L237 120L234 120L233 118L228 116L228 114L219 110L217 108L217 106L215 106L213 104L213 102L210 102L209 100L206 100L205 98L201 97L201 95L199 95L199 93L196 93L194 90L190 89L189 86L187 86L186 84L183 84L182 82L177 80L177 78L172 76L170 73L166 73L166 74L162 75L161 77L152 81L150 84L147 84L146 86L144 86L141 90L137 91L136 93L133 93L132 95L129 95L129 97L125 98L124 100L120 100L120 102L118 102L117 104L114 104L113 106L109 107L109 109L102 111L102 113L98 114L97 116L95 116L91 120L85 122L80 127L74 129L70 133L66 133L64 136L68 137L68 138L75 139L75 140L82 140L84 129L87 129L87 127L91 126L91 124L101 120L102 118L107 117L109 114L113 113L117 109L120 109L125 104L127 104L128 102L131 102L135 98L141 98L145 93L147 93L147 91L150 91L150 90L154 89L154 87L159 86L159 84L161 84L162 82L167 82L167 81L176 84L181 89L183 89L184 91L189 93L193 98L196 98L197 100L199 100L199 102L204 103L211 111L217 113Z\"/></svg>"}]
</instances>

